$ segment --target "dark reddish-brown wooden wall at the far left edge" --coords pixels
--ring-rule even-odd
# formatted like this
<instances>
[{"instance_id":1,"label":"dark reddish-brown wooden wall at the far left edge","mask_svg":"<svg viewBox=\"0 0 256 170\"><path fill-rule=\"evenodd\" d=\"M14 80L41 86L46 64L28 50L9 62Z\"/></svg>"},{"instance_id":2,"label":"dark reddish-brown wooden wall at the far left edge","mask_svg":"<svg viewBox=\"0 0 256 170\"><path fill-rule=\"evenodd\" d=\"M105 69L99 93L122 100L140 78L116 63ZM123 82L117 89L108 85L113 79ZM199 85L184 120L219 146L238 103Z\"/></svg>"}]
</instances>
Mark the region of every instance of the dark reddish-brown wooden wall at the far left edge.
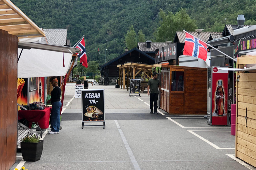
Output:
<instances>
[{"instance_id":1,"label":"dark reddish-brown wooden wall at the far left edge","mask_svg":"<svg viewBox=\"0 0 256 170\"><path fill-rule=\"evenodd\" d=\"M0 169L16 161L18 38L0 29Z\"/></svg>"}]
</instances>

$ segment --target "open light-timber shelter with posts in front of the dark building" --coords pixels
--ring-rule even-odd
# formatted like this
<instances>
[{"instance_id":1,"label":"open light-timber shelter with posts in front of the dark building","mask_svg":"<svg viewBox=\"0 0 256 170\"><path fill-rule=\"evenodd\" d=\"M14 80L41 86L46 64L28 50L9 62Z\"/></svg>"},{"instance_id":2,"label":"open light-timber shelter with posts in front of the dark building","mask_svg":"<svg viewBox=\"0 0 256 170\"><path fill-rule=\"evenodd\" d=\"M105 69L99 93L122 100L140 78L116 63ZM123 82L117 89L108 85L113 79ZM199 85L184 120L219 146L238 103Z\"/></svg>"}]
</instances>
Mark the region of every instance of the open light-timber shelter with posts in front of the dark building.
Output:
<instances>
[{"instance_id":1,"label":"open light-timber shelter with posts in front of the dark building","mask_svg":"<svg viewBox=\"0 0 256 170\"><path fill-rule=\"evenodd\" d=\"M128 91L129 85L130 85L130 79L135 77L141 76L143 77L144 81L141 81L141 91L144 91L147 88L147 79L153 77L152 73L152 67L154 67L151 64L142 64L142 63L136 63L136 62L128 62L125 64L119 64L117 65L119 68L119 84L120 87L126 89ZM127 81L128 80L128 81Z\"/></svg>"}]
</instances>

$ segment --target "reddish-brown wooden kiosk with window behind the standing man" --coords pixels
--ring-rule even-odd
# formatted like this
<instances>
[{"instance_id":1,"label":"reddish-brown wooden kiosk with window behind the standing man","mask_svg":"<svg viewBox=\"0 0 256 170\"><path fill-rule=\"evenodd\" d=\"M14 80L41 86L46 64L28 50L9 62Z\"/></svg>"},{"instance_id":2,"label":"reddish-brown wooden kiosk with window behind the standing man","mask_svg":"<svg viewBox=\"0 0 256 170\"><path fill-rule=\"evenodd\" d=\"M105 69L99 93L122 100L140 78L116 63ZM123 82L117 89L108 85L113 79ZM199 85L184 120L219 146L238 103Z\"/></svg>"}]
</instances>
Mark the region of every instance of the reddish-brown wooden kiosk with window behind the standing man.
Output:
<instances>
[{"instance_id":1,"label":"reddish-brown wooden kiosk with window behind the standing man","mask_svg":"<svg viewBox=\"0 0 256 170\"><path fill-rule=\"evenodd\" d=\"M207 68L161 65L160 108L169 114L206 115Z\"/></svg>"}]
</instances>

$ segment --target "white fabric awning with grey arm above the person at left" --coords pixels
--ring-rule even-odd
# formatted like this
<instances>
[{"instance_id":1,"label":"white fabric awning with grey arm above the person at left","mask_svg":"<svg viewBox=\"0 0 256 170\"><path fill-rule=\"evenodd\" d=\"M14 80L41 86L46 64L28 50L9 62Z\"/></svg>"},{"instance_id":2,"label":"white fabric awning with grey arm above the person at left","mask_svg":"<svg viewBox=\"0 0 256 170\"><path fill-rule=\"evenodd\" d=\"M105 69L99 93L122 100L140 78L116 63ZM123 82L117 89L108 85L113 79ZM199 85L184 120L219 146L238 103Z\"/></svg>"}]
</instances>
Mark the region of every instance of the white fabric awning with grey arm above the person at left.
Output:
<instances>
[{"instance_id":1,"label":"white fabric awning with grey arm above the person at left","mask_svg":"<svg viewBox=\"0 0 256 170\"><path fill-rule=\"evenodd\" d=\"M64 76L69 69L73 53L81 51L67 46L18 43L18 78Z\"/></svg>"}]
</instances>

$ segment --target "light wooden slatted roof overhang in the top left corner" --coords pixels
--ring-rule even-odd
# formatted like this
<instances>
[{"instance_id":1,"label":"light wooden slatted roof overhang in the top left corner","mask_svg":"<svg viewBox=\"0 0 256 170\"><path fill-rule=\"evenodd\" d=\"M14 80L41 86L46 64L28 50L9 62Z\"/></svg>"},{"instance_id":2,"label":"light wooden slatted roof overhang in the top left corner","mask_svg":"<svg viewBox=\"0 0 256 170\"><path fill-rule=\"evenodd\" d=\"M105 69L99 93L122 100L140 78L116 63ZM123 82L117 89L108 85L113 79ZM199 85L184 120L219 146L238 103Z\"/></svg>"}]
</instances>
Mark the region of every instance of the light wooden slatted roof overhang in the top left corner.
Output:
<instances>
[{"instance_id":1,"label":"light wooden slatted roof overhang in the top left corner","mask_svg":"<svg viewBox=\"0 0 256 170\"><path fill-rule=\"evenodd\" d=\"M10 0L0 0L0 29L18 39L45 37L45 33Z\"/></svg>"}]
</instances>

